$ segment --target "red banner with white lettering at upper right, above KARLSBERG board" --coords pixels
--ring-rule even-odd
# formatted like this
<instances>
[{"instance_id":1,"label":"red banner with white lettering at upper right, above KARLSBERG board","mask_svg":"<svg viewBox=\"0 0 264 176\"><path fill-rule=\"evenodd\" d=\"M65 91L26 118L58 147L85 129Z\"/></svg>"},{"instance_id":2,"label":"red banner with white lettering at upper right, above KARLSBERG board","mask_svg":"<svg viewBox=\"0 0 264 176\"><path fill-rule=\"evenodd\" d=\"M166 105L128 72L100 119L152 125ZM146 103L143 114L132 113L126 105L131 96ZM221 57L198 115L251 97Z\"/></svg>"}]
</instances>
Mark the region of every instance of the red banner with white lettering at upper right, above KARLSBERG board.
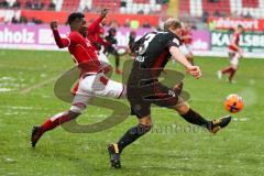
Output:
<instances>
[{"instance_id":1,"label":"red banner with white lettering at upper right, above KARLSBERG board","mask_svg":"<svg viewBox=\"0 0 264 176\"><path fill-rule=\"evenodd\" d=\"M230 30L241 24L246 31L263 31L264 19L209 18L211 30Z\"/></svg>"}]
</instances>

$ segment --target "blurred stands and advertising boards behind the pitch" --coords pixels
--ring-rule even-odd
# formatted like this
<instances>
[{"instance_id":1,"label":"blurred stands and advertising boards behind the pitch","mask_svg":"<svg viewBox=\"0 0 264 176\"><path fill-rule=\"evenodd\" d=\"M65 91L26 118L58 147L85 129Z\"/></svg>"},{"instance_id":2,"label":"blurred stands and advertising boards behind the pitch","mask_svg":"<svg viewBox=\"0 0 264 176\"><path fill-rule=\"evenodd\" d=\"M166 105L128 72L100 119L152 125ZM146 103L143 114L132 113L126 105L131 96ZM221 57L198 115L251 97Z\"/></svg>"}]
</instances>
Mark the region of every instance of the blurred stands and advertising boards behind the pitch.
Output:
<instances>
[{"instance_id":1,"label":"blurred stands and advertising boards behind the pitch","mask_svg":"<svg viewBox=\"0 0 264 176\"><path fill-rule=\"evenodd\" d=\"M92 21L100 9L109 8L107 26L116 25L120 46L161 29L169 16L193 29L195 55L226 56L232 30L242 24L245 57L263 57L264 0L0 0L0 47L55 50L47 23L58 20L66 34L67 16L73 11Z\"/></svg>"}]
</instances>

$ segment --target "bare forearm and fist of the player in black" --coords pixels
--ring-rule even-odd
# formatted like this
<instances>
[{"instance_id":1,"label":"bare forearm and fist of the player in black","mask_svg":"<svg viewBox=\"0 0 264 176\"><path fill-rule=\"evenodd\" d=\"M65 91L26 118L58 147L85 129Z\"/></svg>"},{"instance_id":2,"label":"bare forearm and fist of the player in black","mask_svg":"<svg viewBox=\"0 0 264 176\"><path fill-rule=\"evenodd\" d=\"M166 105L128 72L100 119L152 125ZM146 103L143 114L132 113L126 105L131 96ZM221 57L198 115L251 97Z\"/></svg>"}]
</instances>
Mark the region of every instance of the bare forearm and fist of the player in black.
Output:
<instances>
[{"instance_id":1,"label":"bare forearm and fist of the player in black","mask_svg":"<svg viewBox=\"0 0 264 176\"><path fill-rule=\"evenodd\" d=\"M183 66L186 67L187 72L194 76L196 79L201 77L201 70L198 66L193 66L187 58L180 53L179 48L176 46L169 47L169 53L172 54L173 58L179 62Z\"/></svg>"}]
</instances>

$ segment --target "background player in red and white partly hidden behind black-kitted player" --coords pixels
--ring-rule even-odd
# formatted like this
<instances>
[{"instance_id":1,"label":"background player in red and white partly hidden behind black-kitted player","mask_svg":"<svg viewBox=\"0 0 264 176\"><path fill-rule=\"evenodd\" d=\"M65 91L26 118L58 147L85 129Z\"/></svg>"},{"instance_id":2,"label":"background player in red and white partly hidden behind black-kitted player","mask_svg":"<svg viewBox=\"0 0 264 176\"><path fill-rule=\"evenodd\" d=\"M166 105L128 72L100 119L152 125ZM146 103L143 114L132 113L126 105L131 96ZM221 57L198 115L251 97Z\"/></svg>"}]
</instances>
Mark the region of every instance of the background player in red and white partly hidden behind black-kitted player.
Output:
<instances>
[{"instance_id":1,"label":"background player in red and white partly hidden behind black-kitted player","mask_svg":"<svg viewBox=\"0 0 264 176\"><path fill-rule=\"evenodd\" d=\"M189 63L194 65L194 54L191 52L191 30L188 24L184 24L180 40L183 42L179 46L180 52L185 55Z\"/></svg>"}]
</instances>

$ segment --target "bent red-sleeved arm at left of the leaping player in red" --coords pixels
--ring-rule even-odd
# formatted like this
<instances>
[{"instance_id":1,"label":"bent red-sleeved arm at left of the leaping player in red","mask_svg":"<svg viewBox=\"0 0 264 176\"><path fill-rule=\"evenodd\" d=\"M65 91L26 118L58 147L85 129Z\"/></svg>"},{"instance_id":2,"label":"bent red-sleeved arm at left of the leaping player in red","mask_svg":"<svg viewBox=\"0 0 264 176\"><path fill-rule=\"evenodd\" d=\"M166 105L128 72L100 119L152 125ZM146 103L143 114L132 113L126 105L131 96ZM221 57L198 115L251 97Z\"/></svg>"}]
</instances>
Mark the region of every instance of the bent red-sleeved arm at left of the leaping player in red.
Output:
<instances>
[{"instance_id":1,"label":"bent red-sleeved arm at left of the leaping player in red","mask_svg":"<svg viewBox=\"0 0 264 176\"><path fill-rule=\"evenodd\" d=\"M62 38L59 33L58 33L58 24L57 21L52 21L51 22L51 29L53 31L53 36L55 38L55 42L59 48L67 47L69 45L69 38Z\"/></svg>"}]
</instances>

